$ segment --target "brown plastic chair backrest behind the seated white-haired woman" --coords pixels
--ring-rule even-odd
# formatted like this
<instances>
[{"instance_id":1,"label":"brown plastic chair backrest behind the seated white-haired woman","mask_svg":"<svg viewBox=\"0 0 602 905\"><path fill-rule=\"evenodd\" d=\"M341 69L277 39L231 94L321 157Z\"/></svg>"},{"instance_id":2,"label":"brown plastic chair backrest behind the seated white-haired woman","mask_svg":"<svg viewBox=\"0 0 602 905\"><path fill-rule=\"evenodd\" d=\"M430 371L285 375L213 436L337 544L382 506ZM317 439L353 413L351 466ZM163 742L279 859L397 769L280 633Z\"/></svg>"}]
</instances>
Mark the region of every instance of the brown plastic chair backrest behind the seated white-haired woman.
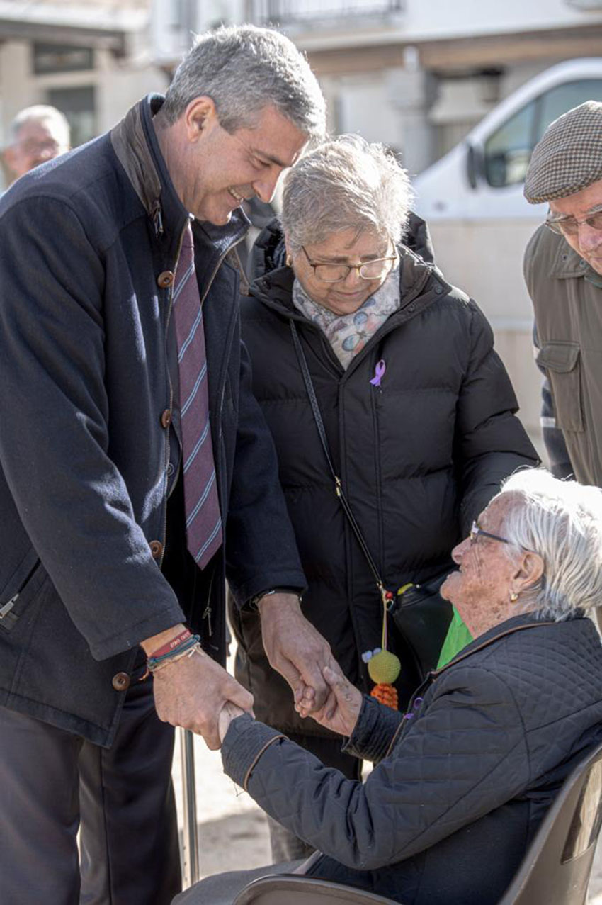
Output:
<instances>
[{"instance_id":1,"label":"brown plastic chair backrest behind the seated white-haired woman","mask_svg":"<svg viewBox=\"0 0 602 905\"><path fill-rule=\"evenodd\" d=\"M564 782L499 905L584 905L602 824L602 745Z\"/></svg>"}]
</instances>

